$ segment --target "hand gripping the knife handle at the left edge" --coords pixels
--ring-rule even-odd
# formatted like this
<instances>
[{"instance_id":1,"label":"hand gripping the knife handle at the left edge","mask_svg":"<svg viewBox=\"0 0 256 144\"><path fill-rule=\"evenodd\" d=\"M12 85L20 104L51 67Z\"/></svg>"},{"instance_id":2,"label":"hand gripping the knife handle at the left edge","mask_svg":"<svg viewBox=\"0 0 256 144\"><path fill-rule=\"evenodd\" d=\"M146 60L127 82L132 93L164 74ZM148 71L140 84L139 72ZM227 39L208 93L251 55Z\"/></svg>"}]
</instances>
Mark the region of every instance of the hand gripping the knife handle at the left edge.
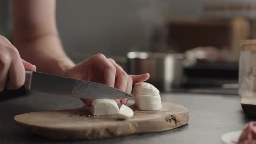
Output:
<instances>
[{"instance_id":1,"label":"hand gripping the knife handle at the left edge","mask_svg":"<svg viewBox=\"0 0 256 144\"><path fill-rule=\"evenodd\" d=\"M36 71L36 66L20 58L18 50L0 35L0 92L20 88L25 82L25 69Z\"/></svg>"}]
</instances>

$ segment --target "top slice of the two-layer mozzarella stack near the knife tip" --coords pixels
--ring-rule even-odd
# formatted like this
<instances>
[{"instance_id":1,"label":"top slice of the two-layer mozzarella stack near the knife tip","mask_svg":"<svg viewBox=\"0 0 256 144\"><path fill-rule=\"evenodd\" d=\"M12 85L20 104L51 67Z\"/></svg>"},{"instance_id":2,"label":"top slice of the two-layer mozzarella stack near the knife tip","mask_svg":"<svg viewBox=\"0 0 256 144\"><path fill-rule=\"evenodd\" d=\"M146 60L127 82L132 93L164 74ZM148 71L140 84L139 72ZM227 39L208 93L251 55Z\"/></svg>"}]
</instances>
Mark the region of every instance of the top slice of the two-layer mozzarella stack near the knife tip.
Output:
<instances>
[{"instance_id":1,"label":"top slice of the two-layer mozzarella stack near the knife tip","mask_svg":"<svg viewBox=\"0 0 256 144\"><path fill-rule=\"evenodd\" d=\"M133 92L139 95L159 95L159 90L147 82L135 84Z\"/></svg>"}]
</instances>

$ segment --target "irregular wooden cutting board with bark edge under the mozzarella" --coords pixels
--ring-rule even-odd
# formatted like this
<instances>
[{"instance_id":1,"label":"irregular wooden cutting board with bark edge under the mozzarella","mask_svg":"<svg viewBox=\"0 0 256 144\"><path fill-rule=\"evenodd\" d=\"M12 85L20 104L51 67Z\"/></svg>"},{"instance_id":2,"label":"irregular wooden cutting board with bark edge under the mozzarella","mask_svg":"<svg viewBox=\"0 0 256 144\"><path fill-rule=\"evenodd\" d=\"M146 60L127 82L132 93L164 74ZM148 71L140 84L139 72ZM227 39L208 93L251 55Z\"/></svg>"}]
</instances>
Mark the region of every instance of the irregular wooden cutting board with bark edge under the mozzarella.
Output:
<instances>
[{"instance_id":1,"label":"irregular wooden cutting board with bark edge under the mozzarella","mask_svg":"<svg viewBox=\"0 0 256 144\"><path fill-rule=\"evenodd\" d=\"M158 111L140 111L134 101L133 118L118 120L116 115L92 116L88 108L39 111L16 115L23 128L51 139L95 139L171 130L187 124L189 112L182 105L163 102Z\"/></svg>"}]
</instances>

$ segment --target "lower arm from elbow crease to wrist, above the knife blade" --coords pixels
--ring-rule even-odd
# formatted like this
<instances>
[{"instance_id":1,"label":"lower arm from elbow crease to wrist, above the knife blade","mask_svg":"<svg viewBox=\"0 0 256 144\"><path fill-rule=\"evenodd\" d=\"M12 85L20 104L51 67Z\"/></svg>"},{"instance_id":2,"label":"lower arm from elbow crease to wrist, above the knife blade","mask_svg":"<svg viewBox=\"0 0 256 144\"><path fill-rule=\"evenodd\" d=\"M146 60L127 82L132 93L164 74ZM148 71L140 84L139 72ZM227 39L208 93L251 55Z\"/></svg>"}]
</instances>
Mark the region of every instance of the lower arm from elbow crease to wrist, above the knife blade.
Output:
<instances>
[{"instance_id":1,"label":"lower arm from elbow crease to wrist, above the knife blade","mask_svg":"<svg viewBox=\"0 0 256 144\"><path fill-rule=\"evenodd\" d=\"M63 75L63 72L75 65L63 51L57 34L38 36L23 42L15 43L14 40L14 46L23 59L36 65L39 72Z\"/></svg>"}]
</instances>

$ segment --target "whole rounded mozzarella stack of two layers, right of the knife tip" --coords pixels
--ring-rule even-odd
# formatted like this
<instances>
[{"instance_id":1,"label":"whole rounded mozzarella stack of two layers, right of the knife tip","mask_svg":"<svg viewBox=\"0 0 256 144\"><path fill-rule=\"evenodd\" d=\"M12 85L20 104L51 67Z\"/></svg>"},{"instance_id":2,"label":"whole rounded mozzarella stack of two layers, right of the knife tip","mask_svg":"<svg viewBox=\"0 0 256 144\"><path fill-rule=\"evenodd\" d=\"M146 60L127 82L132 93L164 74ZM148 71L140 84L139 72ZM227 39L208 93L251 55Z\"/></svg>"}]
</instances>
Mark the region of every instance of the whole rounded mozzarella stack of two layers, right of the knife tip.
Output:
<instances>
[{"instance_id":1,"label":"whole rounded mozzarella stack of two layers, right of the knife tip","mask_svg":"<svg viewBox=\"0 0 256 144\"><path fill-rule=\"evenodd\" d=\"M135 85L134 101L135 105L142 111L156 111L162 108L159 90L146 82Z\"/></svg>"}]
</instances>

